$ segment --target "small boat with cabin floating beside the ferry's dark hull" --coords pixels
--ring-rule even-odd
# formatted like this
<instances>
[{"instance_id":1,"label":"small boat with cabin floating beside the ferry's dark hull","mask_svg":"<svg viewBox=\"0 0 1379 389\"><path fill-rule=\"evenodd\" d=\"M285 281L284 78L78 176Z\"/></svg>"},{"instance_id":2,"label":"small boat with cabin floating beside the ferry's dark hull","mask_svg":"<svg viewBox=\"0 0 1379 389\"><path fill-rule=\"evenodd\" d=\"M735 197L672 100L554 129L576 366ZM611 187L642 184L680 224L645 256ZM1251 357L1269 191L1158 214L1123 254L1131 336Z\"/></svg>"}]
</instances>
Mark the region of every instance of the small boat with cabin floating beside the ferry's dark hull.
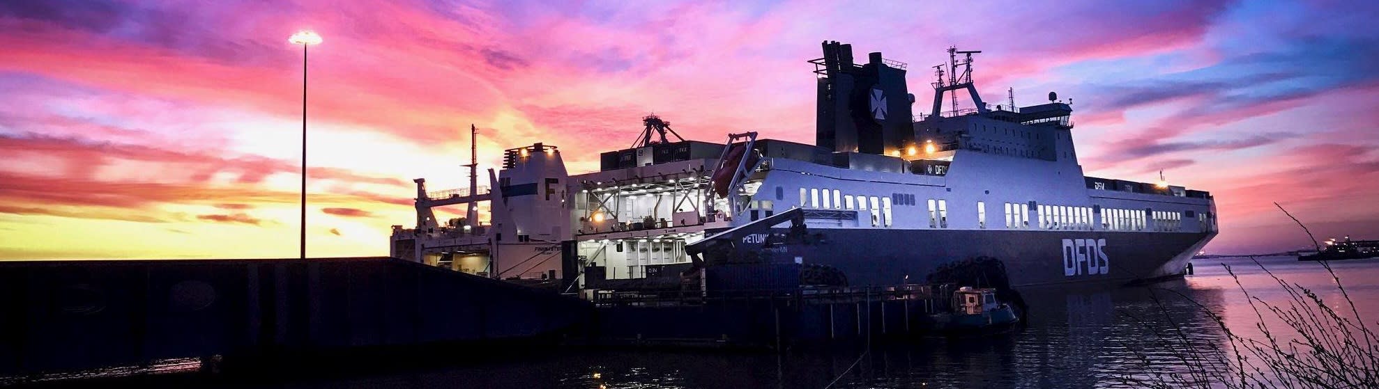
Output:
<instances>
[{"instance_id":1,"label":"small boat with cabin floating beside the ferry's dark hull","mask_svg":"<svg viewBox=\"0 0 1379 389\"><path fill-rule=\"evenodd\" d=\"M996 289L960 287L953 293L953 312L929 315L940 333L980 333L1019 323L1009 304L996 301Z\"/></svg>"}]
</instances>

